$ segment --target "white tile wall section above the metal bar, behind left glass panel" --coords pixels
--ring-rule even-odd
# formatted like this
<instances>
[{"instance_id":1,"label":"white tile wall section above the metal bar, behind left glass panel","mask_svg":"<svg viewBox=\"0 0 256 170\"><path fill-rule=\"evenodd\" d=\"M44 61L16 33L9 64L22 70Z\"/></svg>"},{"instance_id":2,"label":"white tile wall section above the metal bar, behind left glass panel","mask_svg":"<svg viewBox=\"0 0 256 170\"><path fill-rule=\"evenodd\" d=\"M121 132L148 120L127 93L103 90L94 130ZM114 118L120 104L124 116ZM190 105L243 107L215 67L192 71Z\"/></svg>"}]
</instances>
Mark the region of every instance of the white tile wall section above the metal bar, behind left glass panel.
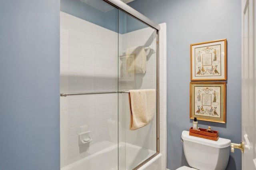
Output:
<instances>
[{"instance_id":1,"label":"white tile wall section above the metal bar, behind left glass panel","mask_svg":"<svg viewBox=\"0 0 256 170\"><path fill-rule=\"evenodd\" d=\"M117 90L118 34L60 13L60 91Z\"/></svg>"}]
</instances>

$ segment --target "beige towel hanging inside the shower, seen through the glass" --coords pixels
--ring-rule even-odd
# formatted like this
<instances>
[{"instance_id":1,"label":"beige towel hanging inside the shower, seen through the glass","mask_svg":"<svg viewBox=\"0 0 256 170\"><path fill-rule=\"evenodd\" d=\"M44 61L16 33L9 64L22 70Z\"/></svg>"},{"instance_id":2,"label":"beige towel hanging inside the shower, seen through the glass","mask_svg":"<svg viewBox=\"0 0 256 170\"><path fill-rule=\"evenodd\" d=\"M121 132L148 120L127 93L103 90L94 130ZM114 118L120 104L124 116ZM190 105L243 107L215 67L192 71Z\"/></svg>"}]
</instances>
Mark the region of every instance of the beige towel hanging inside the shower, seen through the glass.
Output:
<instances>
[{"instance_id":1,"label":"beige towel hanging inside the shower, seen through the glass","mask_svg":"<svg viewBox=\"0 0 256 170\"><path fill-rule=\"evenodd\" d=\"M128 73L145 73L147 55L144 46L126 49L126 71Z\"/></svg>"}]
</instances>

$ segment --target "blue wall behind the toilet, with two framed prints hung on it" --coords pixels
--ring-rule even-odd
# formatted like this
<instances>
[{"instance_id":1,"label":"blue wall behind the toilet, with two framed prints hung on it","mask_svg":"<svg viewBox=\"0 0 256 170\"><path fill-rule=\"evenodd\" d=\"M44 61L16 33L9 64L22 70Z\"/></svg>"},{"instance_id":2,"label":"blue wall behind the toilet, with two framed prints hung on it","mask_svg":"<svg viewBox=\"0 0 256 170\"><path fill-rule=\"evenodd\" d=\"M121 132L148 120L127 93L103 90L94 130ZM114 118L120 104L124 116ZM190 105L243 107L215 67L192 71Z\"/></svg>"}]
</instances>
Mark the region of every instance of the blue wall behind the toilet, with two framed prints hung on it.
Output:
<instances>
[{"instance_id":1,"label":"blue wall behind the toilet, with two framed prints hung on it","mask_svg":"<svg viewBox=\"0 0 256 170\"><path fill-rule=\"evenodd\" d=\"M228 81L226 124L198 121L220 137L241 140L241 2L240 0L135 0L129 4L157 23L167 24L167 167L188 165L182 130L189 119L190 44L226 38ZM211 159L211 158L206 158ZM241 169L241 152L230 153L228 170Z\"/></svg>"}]
</instances>

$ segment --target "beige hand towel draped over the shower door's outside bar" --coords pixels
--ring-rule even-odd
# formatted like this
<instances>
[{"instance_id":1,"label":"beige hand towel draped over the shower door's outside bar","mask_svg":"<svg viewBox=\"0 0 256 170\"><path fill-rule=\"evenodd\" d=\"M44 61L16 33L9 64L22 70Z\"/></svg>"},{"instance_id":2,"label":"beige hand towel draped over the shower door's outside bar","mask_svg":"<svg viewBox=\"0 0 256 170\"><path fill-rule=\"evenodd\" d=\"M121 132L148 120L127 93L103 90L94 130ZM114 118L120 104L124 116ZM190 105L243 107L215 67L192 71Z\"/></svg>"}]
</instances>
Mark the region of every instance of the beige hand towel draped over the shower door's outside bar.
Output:
<instances>
[{"instance_id":1,"label":"beige hand towel draped over the shower door's outside bar","mask_svg":"<svg viewBox=\"0 0 256 170\"><path fill-rule=\"evenodd\" d=\"M144 127L156 113L156 90L130 90L130 130Z\"/></svg>"}]
</instances>

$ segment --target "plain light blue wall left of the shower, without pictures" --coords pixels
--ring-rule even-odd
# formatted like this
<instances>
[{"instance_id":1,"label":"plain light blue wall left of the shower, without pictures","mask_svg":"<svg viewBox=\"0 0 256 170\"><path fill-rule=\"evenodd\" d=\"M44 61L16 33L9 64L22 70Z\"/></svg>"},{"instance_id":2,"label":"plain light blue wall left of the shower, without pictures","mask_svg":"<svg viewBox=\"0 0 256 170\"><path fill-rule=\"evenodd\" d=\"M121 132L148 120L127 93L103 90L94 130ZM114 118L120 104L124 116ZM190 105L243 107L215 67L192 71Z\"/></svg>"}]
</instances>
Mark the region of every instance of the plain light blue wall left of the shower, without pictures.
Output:
<instances>
[{"instance_id":1,"label":"plain light blue wall left of the shower, without pictures","mask_svg":"<svg viewBox=\"0 0 256 170\"><path fill-rule=\"evenodd\" d=\"M0 4L0 169L60 169L60 1Z\"/></svg>"}]
</instances>

